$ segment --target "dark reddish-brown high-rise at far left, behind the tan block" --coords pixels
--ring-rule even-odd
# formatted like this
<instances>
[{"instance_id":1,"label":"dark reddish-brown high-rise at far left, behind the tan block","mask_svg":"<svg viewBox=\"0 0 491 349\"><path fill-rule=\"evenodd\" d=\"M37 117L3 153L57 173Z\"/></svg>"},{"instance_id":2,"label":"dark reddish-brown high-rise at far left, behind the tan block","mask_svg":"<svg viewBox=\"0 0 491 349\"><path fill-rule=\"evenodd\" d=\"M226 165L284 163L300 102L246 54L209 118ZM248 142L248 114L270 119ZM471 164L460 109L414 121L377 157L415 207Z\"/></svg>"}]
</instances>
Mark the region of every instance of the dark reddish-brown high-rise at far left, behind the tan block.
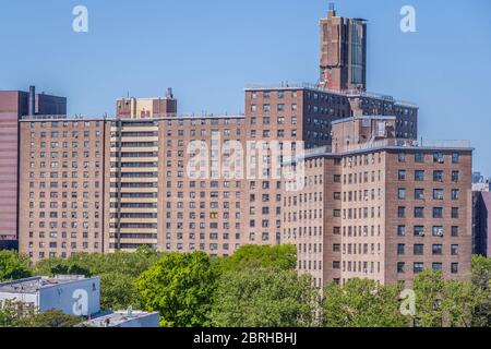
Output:
<instances>
[{"instance_id":1,"label":"dark reddish-brown high-rise at far left, behind the tan block","mask_svg":"<svg viewBox=\"0 0 491 349\"><path fill-rule=\"evenodd\" d=\"M0 241L12 248L19 220L19 120L25 115L67 113L63 97L29 92L0 91ZM1 244L0 244L1 245Z\"/></svg>"}]
</instances>

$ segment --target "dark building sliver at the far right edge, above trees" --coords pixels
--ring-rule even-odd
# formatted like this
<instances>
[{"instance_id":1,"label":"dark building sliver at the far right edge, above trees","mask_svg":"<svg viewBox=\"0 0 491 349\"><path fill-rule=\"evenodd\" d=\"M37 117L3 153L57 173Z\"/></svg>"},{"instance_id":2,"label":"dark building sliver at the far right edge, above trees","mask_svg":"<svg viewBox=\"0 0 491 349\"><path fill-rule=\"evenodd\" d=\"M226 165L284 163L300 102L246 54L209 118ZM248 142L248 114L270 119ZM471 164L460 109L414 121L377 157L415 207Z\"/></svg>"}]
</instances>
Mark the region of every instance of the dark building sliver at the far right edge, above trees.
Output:
<instances>
[{"instance_id":1,"label":"dark building sliver at the far right edge, above trees","mask_svg":"<svg viewBox=\"0 0 491 349\"><path fill-rule=\"evenodd\" d=\"M491 256L491 192L472 193L472 253Z\"/></svg>"}]
</instances>

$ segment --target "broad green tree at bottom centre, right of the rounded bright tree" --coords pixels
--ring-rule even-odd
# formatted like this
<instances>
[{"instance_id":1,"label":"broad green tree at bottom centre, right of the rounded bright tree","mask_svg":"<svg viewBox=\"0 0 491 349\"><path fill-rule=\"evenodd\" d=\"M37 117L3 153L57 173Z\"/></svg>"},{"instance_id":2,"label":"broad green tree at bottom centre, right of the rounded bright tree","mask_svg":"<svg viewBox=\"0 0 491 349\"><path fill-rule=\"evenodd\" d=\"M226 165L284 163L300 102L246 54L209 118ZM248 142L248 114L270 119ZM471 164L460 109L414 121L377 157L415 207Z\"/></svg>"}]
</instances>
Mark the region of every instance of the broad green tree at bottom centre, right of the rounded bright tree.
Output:
<instances>
[{"instance_id":1,"label":"broad green tree at bottom centre, right of the rounded bright tree","mask_svg":"<svg viewBox=\"0 0 491 349\"><path fill-rule=\"evenodd\" d=\"M318 290L308 275L278 268L225 273L218 284L212 323L219 327L312 326Z\"/></svg>"}]
</instances>

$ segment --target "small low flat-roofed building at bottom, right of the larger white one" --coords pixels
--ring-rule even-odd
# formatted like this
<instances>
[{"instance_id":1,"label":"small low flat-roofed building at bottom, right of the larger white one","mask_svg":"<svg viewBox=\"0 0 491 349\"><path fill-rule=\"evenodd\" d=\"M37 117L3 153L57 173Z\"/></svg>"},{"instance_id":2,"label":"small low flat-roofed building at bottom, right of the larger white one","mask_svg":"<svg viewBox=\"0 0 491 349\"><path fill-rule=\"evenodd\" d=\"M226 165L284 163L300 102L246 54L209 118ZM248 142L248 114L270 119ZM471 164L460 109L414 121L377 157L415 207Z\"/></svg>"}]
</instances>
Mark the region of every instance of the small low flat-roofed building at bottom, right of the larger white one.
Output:
<instances>
[{"instance_id":1,"label":"small low flat-roofed building at bottom, right of the larger white one","mask_svg":"<svg viewBox=\"0 0 491 349\"><path fill-rule=\"evenodd\" d=\"M158 312L118 311L83 322L86 327L159 327Z\"/></svg>"}]
</instances>

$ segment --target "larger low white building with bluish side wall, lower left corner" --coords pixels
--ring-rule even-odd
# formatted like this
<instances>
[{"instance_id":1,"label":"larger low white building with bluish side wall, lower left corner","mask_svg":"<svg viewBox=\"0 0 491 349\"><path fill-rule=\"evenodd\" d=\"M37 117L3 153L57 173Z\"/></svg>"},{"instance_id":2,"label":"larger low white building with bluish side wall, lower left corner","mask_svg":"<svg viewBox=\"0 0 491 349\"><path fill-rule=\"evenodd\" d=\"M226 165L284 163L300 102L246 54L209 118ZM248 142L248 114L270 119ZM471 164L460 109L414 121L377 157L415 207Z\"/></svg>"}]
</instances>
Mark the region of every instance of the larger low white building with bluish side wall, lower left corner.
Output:
<instances>
[{"instance_id":1,"label":"larger low white building with bluish side wall, lower left corner","mask_svg":"<svg viewBox=\"0 0 491 349\"><path fill-rule=\"evenodd\" d=\"M31 304L40 313L60 310L88 316L100 312L100 279L70 275L0 282L0 302L5 300Z\"/></svg>"}]
</instances>

